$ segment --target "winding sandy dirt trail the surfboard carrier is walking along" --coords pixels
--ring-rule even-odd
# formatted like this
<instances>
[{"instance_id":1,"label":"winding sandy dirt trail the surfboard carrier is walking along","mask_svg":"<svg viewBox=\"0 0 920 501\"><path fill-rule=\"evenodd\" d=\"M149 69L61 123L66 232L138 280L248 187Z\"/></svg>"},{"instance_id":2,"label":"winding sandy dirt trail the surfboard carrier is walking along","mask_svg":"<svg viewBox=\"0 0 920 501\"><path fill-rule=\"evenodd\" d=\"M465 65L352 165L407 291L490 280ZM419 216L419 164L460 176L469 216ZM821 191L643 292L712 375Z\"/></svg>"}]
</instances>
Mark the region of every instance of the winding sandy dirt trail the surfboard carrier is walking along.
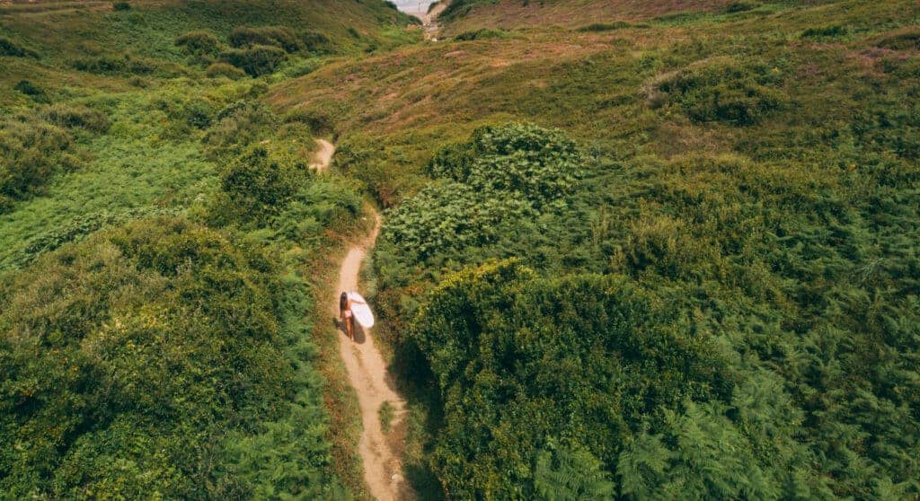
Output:
<instances>
[{"instance_id":1,"label":"winding sandy dirt trail the surfboard carrier is walking along","mask_svg":"<svg viewBox=\"0 0 920 501\"><path fill-rule=\"evenodd\" d=\"M319 164L318 172L328 169L335 146L324 140L316 140L320 151L316 154ZM374 230L362 242L353 245L339 268L339 285L335 290L335 301L330 304L330 312L339 317L339 292L358 290L358 276L367 251L374 246L380 231L380 215L374 213ZM402 461L399 450L402 448L402 425L406 403L393 389L391 378L386 370L386 362L380 351L374 347L374 336L370 330L355 324L354 340L349 339L340 328L339 353L348 370L351 386L358 393L361 407L363 430L358 451L364 466L364 481L371 489L371 494L379 501L413 498L411 490L403 481ZM389 402L394 409L394 417L388 431L384 431L380 420L380 407Z\"/></svg>"}]
</instances>

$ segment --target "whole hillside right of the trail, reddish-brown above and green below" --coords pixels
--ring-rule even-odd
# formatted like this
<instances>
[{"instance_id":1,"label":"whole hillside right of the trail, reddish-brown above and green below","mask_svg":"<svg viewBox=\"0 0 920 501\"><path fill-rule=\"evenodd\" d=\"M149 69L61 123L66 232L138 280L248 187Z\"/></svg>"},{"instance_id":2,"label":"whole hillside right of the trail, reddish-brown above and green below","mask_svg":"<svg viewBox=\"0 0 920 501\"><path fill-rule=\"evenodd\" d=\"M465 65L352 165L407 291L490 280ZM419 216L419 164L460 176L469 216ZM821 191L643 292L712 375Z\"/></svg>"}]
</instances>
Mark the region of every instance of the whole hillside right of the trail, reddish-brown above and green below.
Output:
<instances>
[{"instance_id":1,"label":"whole hillside right of the trail, reddish-brown above and green below","mask_svg":"<svg viewBox=\"0 0 920 501\"><path fill-rule=\"evenodd\" d=\"M270 91L391 207L419 492L920 494L920 7L752 4L456 28Z\"/></svg>"}]
</instances>

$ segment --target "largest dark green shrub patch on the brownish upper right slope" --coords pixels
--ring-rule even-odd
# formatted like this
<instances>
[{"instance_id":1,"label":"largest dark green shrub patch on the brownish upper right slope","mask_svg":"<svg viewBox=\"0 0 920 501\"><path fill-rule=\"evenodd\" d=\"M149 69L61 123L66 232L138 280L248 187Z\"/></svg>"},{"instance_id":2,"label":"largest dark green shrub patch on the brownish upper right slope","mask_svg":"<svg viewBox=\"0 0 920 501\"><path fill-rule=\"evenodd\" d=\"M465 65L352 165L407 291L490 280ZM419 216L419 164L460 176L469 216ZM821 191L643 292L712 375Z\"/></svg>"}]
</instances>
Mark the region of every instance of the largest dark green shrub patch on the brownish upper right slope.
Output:
<instances>
[{"instance_id":1,"label":"largest dark green shrub patch on the brownish upper right slope","mask_svg":"<svg viewBox=\"0 0 920 501\"><path fill-rule=\"evenodd\" d=\"M666 75L651 85L650 103L673 101L691 119L753 125L788 99L763 64L737 63L728 58L705 61ZM661 92L663 96L653 93Z\"/></svg>"}]
</instances>

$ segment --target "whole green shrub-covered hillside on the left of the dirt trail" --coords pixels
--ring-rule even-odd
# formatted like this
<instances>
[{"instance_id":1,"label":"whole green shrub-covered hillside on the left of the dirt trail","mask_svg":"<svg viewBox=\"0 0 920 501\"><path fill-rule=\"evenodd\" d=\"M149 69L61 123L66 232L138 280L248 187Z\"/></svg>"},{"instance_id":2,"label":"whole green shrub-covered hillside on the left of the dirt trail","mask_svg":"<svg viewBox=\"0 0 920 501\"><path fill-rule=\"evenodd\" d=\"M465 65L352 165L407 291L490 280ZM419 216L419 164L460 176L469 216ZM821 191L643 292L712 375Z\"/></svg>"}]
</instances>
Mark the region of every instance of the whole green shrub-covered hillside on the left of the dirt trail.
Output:
<instances>
[{"instance_id":1,"label":"whole green shrub-covered hillside on the left of the dirt trail","mask_svg":"<svg viewBox=\"0 0 920 501\"><path fill-rule=\"evenodd\" d=\"M0 498L363 495L317 321L362 196L308 168L328 117L261 97L406 22L374 0L0 6Z\"/></svg>"}]
</instances>

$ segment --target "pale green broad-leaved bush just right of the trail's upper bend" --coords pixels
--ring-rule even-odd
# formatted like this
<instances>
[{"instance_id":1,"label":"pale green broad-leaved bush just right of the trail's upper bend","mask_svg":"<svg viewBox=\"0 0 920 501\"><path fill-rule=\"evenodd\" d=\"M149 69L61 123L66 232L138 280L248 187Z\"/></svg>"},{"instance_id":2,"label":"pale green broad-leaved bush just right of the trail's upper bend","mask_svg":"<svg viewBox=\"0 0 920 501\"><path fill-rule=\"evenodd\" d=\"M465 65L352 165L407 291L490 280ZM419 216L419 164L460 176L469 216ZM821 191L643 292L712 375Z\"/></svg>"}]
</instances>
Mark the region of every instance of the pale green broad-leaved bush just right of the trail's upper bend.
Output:
<instances>
[{"instance_id":1,"label":"pale green broad-leaved bush just right of the trail's upper bend","mask_svg":"<svg viewBox=\"0 0 920 501\"><path fill-rule=\"evenodd\" d=\"M448 180L391 211L383 240L395 254L416 259L494 243L538 209L564 207L581 163L575 143L559 131L525 124L478 129L469 142L435 154L428 170Z\"/></svg>"}]
</instances>

